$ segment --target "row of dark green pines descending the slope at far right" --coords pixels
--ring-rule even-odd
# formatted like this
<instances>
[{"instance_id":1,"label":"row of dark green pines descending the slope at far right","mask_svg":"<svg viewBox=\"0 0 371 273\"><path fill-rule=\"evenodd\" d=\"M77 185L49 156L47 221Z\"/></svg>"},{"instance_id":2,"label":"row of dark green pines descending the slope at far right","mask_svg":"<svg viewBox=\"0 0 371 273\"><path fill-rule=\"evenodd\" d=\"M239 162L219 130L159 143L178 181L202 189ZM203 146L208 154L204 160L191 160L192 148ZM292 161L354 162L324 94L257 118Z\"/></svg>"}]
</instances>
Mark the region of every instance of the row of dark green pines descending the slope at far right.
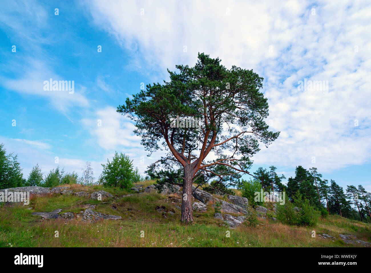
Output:
<instances>
[{"instance_id":1,"label":"row of dark green pines descending the slope at far right","mask_svg":"<svg viewBox=\"0 0 371 273\"><path fill-rule=\"evenodd\" d=\"M262 188L267 192L286 192L290 201L299 196L308 200L309 204L322 214L338 214L342 217L371 222L371 193L362 185L349 185L347 189L339 186L335 180L323 179L317 168L306 170L302 166L295 169L295 177L289 177L287 184L282 180L286 177L276 173L276 167L269 170L260 167L254 172Z\"/></svg>"}]
</instances>

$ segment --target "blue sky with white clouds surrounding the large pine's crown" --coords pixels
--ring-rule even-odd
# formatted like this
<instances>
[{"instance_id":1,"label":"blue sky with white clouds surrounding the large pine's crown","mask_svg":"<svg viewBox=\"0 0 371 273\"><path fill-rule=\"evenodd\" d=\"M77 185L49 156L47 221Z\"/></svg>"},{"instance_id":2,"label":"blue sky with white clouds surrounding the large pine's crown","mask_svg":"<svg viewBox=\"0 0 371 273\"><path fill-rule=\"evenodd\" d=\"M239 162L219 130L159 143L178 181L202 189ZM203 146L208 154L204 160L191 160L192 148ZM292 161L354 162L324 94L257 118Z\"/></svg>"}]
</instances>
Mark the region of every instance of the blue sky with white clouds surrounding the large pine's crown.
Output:
<instances>
[{"instance_id":1,"label":"blue sky with white clouds surrounding the large pine's crown","mask_svg":"<svg viewBox=\"0 0 371 273\"><path fill-rule=\"evenodd\" d=\"M36 163L80 173L89 161L98 177L116 150L144 172L162 152L148 158L115 109L200 51L265 79L267 122L281 135L253 157L252 171L275 165L289 177L298 165L317 167L370 191L370 26L367 1L4 2L0 142L25 176ZM43 90L50 78L73 80L74 93ZM298 90L305 79L328 90Z\"/></svg>"}]
</instances>

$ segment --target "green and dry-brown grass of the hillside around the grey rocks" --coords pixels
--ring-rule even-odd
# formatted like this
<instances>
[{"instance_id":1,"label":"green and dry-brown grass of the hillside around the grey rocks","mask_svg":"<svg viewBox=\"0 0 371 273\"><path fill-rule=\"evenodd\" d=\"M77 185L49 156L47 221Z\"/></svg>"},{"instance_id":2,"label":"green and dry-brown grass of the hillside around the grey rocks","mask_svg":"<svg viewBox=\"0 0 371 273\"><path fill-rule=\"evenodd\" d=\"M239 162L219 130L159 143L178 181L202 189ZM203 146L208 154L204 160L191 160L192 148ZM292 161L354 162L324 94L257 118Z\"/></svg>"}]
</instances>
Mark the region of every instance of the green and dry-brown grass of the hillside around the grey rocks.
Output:
<instances>
[{"instance_id":1,"label":"green and dry-brown grass of the hillside around the grey rocks","mask_svg":"<svg viewBox=\"0 0 371 273\"><path fill-rule=\"evenodd\" d=\"M153 184L146 181L145 186ZM95 192L102 186L61 185L72 187L74 192ZM242 224L231 229L219 219L214 219L215 209L209 204L207 212L194 212L194 224L180 223L179 204L174 194L156 192L132 193L127 190L105 188L115 198L103 201L89 197L52 194L33 196L28 206L23 204L0 205L1 247L359 247L359 244L345 244L339 234L354 234L357 239L371 242L371 225L340 216L328 216L314 227L287 226L272 220L258 218L256 227ZM129 196L125 196L132 194ZM236 191L238 195L239 192ZM124 196L124 197L122 197ZM32 215L32 212L78 213L86 204L95 205L95 211L119 215L117 220L101 220L96 223L80 219L46 219ZM165 207L165 217L157 207ZM32 207L32 209L29 209ZM312 237L326 233L334 241ZM58 231L59 237L55 237ZM227 232L230 237L227 237ZM142 237L141 237L142 234Z\"/></svg>"}]
</instances>

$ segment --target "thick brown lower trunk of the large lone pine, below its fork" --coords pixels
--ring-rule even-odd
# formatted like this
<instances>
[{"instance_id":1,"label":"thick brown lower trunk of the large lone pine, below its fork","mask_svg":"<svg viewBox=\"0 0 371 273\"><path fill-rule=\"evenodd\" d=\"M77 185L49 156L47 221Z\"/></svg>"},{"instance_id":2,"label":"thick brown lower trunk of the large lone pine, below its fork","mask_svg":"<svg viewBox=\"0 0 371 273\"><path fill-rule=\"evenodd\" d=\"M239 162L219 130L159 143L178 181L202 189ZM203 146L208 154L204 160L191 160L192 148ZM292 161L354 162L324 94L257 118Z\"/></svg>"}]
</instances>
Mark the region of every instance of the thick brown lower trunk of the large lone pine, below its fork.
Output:
<instances>
[{"instance_id":1,"label":"thick brown lower trunk of the large lone pine, below its fork","mask_svg":"<svg viewBox=\"0 0 371 273\"><path fill-rule=\"evenodd\" d=\"M192 182L193 182L193 168L190 165L184 166L182 215L180 220L181 222L186 224L193 222Z\"/></svg>"}]
</instances>

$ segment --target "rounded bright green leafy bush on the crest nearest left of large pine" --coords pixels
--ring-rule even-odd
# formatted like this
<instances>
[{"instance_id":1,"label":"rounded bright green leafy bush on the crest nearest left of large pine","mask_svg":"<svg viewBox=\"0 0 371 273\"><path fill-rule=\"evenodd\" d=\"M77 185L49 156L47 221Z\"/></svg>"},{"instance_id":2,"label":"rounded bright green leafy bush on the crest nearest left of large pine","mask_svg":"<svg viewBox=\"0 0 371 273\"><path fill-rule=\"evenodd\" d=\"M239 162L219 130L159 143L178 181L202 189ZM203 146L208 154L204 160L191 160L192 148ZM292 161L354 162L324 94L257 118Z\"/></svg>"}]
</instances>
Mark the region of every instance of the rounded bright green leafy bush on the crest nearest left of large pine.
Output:
<instances>
[{"instance_id":1,"label":"rounded bright green leafy bush on the crest nearest left of large pine","mask_svg":"<svg viewBox=\"0 0 371 273\"><path fill-rule=\"evenodd\" d=\"M112 161L107 159L107 164L102 164L103 172L99 180L105 187L119 187L127 189L138 178L133 170L132 160L123 153L115 153Z\"/></svg>"}]
</instances>

